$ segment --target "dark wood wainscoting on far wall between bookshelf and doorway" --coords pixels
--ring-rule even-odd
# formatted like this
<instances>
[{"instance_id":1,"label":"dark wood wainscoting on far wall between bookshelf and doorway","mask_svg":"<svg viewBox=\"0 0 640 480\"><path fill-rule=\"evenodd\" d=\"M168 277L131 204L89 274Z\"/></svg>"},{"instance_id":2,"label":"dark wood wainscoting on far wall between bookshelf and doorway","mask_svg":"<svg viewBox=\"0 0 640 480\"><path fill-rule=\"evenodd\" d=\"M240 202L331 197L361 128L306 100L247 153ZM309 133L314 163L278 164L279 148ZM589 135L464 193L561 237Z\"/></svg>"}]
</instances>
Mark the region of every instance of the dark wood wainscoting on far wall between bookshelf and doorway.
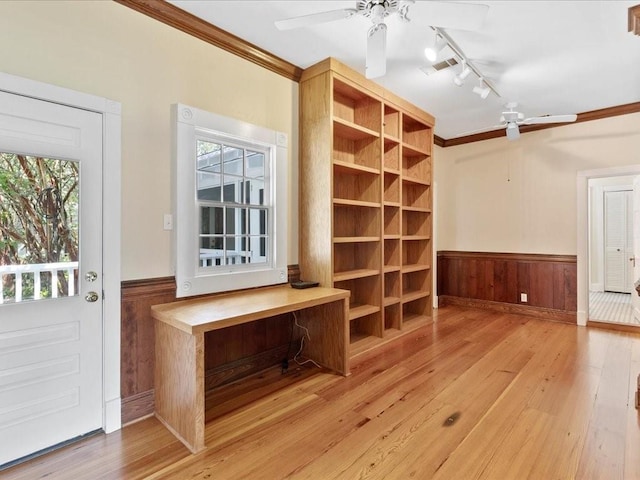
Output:
<instances>
[{"instance_id":1,"label":"dark wood wainscoting on far wall between bookshelf and doorway","mask_svg":"<svg viewBox=\"0 0 640 480\"><path fill-rule=\"evenodd\" d=\"M575 323L576 256L440 251L438 301Z\"/></svg>"}]
</instances>

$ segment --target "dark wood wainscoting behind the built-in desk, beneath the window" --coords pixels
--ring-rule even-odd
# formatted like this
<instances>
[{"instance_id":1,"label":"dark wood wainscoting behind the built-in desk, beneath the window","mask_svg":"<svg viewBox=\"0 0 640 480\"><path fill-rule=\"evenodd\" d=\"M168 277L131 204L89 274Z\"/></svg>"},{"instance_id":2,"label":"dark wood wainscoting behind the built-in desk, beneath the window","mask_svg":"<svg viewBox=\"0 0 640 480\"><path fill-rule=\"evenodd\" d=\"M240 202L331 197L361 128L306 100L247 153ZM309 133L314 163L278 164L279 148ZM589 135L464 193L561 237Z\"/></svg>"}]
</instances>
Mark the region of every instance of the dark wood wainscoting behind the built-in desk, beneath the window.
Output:
<instances>
[{"instance_id":1,"label":"dark wood wainscoting behind the built-in desk, beneath the window","mask_svg":"<svg viewBox=\"0 0 640 480\"><path fill-rule=\"evenodd\" d=\"M288 278L290 282L300 279L298 265L288 267ZM122 423L126 424L154 411L155 335L151 306L176 301L175 278L125 281L121 290L120 389ZM279 364L288 353L290 340L290 315L230 327L207 336L206 388Z\"/></svg>"}]
</instances>

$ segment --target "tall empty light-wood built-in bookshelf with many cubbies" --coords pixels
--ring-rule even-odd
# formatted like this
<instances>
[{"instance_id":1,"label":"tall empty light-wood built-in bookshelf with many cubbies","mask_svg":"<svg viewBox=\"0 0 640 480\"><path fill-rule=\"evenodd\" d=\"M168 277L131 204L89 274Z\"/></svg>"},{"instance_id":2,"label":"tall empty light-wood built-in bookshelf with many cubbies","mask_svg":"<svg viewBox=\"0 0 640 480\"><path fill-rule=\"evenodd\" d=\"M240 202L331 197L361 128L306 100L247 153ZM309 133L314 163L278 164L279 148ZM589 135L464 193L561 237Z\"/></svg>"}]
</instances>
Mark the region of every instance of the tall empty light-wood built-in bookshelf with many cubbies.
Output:
<instances>
[{"instance_id":1,"label":"tall empty light-wood built-in bookshelf with many cubbies","mask_svg":"<svg viewBox=\"0 0 640 480\"><path fill-rule=\"evenodd\" d=\"M350 290L350 355L432 317L431 115L334 59L300 81L300 273Z\"/></svg>"}]
</instances>

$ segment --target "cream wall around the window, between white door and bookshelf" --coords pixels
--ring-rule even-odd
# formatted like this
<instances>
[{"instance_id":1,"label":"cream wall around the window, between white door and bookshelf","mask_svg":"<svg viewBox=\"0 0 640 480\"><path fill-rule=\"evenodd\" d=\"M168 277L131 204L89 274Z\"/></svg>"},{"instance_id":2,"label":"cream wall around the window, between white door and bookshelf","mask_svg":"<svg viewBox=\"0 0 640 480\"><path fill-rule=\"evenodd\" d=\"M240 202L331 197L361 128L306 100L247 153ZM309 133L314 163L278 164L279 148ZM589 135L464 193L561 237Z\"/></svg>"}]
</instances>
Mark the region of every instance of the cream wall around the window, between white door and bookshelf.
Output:
<instances>
[{"instance_id":1,"label":"cream wall around the window, between white door and bookshelf","mask_svg":"<svg viewBox=\"0 0 640 480\"><path fill-rule=\"evenodd\" d=\"M295 82L110 1L0 2L0 71L122 104L123 280L173 274L170 105L289 135L288 264L298 261Z\"/></svg>"}]
</instances>

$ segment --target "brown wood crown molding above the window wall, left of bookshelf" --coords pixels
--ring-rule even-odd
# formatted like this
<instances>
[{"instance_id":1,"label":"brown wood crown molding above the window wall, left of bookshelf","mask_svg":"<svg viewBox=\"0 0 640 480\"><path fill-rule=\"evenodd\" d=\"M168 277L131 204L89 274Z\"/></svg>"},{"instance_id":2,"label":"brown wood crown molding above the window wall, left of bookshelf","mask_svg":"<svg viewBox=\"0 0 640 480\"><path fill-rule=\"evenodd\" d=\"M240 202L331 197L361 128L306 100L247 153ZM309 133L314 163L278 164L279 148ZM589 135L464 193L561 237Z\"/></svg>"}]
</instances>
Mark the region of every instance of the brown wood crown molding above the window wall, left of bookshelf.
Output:
<instances>
[{"instance_id":1,"label":"brown wood crown molding above the window wall, left of bookshelf","mask_svg":"<svg viewBox=\"0 0 640 480\"><path fill-rule=\"evenodd\" d=\"M235 35L206 22L165 0L114 0L159 22L215 45L295 82L302 69Z\"/></svg>"}]
</instances>

